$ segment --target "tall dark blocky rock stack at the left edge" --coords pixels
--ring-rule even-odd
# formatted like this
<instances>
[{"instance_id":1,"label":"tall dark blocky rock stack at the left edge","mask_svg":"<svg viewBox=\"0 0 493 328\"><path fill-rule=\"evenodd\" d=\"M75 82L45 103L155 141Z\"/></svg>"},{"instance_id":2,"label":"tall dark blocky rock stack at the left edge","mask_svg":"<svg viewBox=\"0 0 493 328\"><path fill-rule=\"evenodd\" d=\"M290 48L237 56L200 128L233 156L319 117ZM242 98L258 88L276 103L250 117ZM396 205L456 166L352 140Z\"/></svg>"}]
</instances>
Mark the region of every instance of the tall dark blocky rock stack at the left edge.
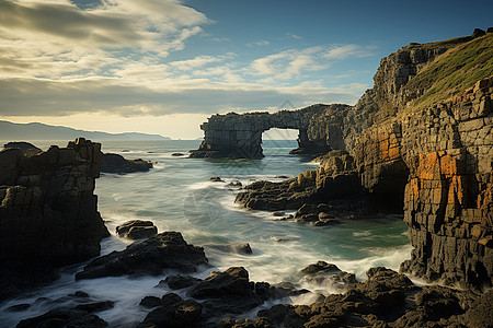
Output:
<instances>
[{"instance_id":1,"label":"tall dark blocky rock stack at the left edge","mask_svg":"<svg viewBox=\"0 0 493 328\"><path fill-rule=\"evenodd\" d=\"M81 138L35 154L0 152L0 297L99 255L108 236L93 194L101 157L101 144Z\"/></svg>"}]
</instances>

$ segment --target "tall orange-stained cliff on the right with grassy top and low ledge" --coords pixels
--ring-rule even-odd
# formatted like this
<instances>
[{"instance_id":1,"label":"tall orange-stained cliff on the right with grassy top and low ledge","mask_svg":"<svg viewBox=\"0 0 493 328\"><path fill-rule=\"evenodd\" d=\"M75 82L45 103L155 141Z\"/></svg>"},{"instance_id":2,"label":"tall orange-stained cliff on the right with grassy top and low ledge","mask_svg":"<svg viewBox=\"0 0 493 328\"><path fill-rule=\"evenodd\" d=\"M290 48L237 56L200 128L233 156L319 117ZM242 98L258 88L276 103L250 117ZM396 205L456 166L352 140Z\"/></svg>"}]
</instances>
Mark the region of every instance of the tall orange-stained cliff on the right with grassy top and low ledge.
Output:
<instances>
[{"instance_id":1,"label":"tall orange-stained cliff on the right with grassy top and low ledge","mask_svg":"<svg viewBox=\"0 0 493 328\"><path fill-rule=\"evenodd\" d=\"M330 152L295 179L255 183L237 201L275 210L323 204L348 218L397 208L414 246L402 271L491 285L492 58L492 33L411 44L383 58L375 86L355 106L326 106L307 128L347 152ZM296 216L323 224L314 214Z\"/></svg>"}]
</instances>

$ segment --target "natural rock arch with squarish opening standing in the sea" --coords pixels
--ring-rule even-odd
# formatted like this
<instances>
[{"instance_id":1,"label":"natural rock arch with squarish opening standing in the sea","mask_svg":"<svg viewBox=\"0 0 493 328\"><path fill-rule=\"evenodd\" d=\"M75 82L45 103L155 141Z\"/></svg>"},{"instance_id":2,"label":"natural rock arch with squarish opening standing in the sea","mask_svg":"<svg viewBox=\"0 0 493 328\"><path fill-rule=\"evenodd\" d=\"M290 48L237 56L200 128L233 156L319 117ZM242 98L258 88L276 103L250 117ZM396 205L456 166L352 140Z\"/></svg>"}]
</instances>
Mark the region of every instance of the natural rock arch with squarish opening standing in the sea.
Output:
<instances>
[{"instance_id":1,"label":"natural rock arch with squarish opening standing in the sea","mask_svg":"<svg viewBox=\"0 0 493 328\"><path fill-rule=\"evenodd\" d=\"M262 132L271 128L299 130L298 149L294 153L323 153L330 144L312 121L319 119L326 108L333 112L344 110L346 105L313 105L300 110L280 110L270 114L248 113L214 115L200 126L204 130L204 141L196 151L191 151L190 157L230 157L262 159Z\"/></svg>"}]
</instances>

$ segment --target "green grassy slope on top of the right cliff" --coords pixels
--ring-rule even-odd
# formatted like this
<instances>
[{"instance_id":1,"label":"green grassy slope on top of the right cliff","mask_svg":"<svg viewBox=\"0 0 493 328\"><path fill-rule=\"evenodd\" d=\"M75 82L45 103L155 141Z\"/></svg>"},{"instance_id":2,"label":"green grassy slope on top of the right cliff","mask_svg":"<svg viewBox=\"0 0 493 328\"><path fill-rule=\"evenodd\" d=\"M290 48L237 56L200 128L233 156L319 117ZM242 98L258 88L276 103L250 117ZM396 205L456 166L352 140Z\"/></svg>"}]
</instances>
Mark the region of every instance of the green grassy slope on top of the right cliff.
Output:
<instances>
[{"instance_id":1,"label":"green grassy slope on top of the right cliff","mask_svg":"<svg viewBox=\"0 0 493 328\"><path fill-rule=\"evenodd\" d=\"M493 75L493 33L467 40L465 37L410 46L451 46L448 52L438 57L404 86L409 90L425 90L421 97L411 103L411 107L415 109L429 107L463 92L479 80Z\"/></svg>"}]
</instances>

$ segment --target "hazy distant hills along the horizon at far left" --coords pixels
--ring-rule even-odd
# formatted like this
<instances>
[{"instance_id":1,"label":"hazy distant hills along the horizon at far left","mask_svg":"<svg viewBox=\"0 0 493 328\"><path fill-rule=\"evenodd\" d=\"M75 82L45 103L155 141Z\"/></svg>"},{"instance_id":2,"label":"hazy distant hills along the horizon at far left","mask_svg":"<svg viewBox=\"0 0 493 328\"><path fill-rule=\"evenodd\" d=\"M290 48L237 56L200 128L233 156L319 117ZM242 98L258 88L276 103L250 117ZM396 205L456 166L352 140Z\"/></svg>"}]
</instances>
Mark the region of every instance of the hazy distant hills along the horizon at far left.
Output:
<instances>
[{"instance_id":1,"label":"hazy distant hills along the horizon at far left","mask_svg":"<svg viewBox=\"0 0 493 328\"><path fill-rule=\"evenodd\" d=\"M170 140L160 134L137 132L107 133L84 131L67 127L48 126L39 122L13 124L0 120L0 140L72 140L79 137L93 141L102 140Z\"/></svg>"}]
</instances>

